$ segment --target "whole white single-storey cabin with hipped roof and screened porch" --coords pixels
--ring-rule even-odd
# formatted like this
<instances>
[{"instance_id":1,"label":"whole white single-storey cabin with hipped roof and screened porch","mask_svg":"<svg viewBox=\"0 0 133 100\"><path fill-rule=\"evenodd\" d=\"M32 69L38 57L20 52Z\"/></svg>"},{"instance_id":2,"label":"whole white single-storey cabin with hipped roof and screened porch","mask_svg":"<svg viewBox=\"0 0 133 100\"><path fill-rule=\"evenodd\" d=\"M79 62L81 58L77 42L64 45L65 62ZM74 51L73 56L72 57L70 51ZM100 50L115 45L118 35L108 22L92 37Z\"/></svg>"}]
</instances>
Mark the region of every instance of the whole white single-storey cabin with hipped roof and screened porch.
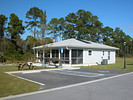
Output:
<instances>
[{"instance_id":1,"label":"whole white single-storey cabin with hipped roof and screened porch","mask_svg":"<svg viewBox=\"0 0 133 100\"><path fill-rule=\"evenodd\" d=\"M46 59L59 59L62 61L62 66L66 67L115 63L116 50L119 50L116 47L75 38L37 46L33 49L36 51L37 66L50 66ZM58 64L58 61L55 63Z\"/></svg>"}]
</instances>

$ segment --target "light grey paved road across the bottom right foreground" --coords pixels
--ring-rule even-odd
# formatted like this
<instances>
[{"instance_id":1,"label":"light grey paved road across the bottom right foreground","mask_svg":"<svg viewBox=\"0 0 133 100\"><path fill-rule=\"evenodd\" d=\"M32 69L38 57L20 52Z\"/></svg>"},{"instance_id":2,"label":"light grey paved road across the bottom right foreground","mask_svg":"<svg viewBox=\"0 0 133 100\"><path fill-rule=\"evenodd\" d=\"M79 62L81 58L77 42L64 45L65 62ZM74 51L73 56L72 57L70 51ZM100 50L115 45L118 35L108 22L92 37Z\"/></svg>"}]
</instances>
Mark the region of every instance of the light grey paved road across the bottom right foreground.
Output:
<instances>
[{"instance_id":1,"label":"light grey paved road across the bottom right foreground","mask_svg":"<svg viewBox=\"0 0 133 100\"><path fill-rule=\"evenodd\" d=\"M57 89L18 95L9 100L132 100L133 72Z\"/></svg>"}]
</instances>

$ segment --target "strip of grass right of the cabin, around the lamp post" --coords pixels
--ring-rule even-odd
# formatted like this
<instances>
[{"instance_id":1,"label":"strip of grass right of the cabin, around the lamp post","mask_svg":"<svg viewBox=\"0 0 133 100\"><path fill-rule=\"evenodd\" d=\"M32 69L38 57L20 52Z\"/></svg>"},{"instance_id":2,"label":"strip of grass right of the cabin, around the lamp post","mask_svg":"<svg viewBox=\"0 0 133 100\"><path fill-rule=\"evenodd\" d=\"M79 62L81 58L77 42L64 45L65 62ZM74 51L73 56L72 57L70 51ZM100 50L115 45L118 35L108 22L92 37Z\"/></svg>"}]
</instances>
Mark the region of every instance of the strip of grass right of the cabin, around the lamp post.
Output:
<instances>
[{"instance_id":1,"label":"strip of grass right of the cabin, around the lamp post","mask_svg":"<svg viewBox=\"0 0 133 100\"><path fill-rule=\"evenodd\" d=\"M115 64L85 66L81 68L133 71L133 57L126 58L126 69L124 69L124 58L116 58Z\"/></svg>"}]
</instances>

